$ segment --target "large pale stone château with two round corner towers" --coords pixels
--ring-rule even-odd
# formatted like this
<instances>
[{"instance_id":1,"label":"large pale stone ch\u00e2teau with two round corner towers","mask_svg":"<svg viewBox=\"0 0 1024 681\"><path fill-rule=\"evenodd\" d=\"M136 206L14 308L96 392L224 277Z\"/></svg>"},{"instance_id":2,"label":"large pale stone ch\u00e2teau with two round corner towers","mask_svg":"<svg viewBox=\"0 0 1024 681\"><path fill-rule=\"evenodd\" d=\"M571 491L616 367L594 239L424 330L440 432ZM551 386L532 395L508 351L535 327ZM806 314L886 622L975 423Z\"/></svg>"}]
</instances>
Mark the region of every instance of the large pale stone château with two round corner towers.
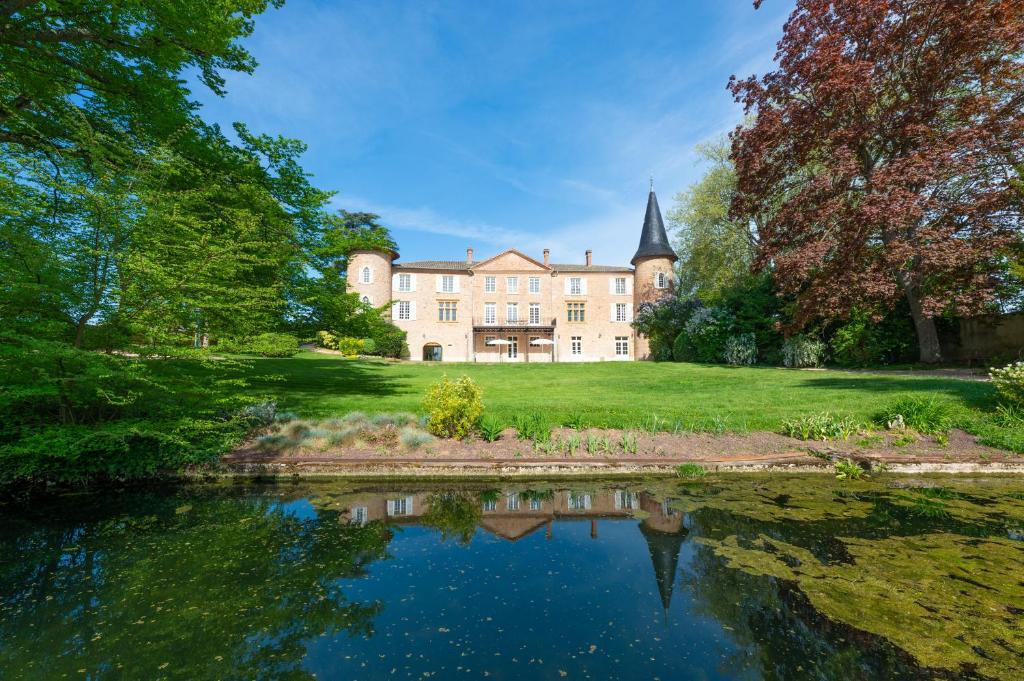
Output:
<instances>
[{"instance_id":1,"label":"large pale stone ch\u00e2teau with two round corner towers","mask_svg":"<svg viewBox=\"0 0 1024 681\"><path fill-rule=\"evenodd\" d=\"M357 251L349 286L364 301L391 304L414 360L604 361L647 357L633 312L673 287L673 263L657 197L647 198L640 244L629 265L541 260L509 249L486 260L396 262L397 253Z\"/></svg>"}]
</instances>

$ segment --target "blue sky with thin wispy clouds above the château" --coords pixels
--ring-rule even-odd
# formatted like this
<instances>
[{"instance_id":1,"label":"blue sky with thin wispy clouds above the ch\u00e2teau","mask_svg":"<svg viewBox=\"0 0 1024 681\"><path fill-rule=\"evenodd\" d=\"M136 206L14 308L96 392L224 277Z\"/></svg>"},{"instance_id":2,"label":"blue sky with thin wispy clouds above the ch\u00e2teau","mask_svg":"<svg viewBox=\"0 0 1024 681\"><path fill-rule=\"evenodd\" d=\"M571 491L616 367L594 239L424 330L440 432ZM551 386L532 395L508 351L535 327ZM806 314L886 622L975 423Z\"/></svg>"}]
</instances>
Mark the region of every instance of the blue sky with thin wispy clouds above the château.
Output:
<instances>
[{"instance_id":1,"label":"blue sky with thin wispy clouds above the ch\u00e2teau","mask_svg":"<svg viewBox=\"0 0 1024 681\"><path fill-rule=\"evenodd\" d=\"M741 111L790 0L288 0L246 42L254 75L197 90L207 120L298 137L335 205L379 213L402 260L505 248L623 264L648 176L664 211L695 144Z\"/></svg>"}]
</instances>

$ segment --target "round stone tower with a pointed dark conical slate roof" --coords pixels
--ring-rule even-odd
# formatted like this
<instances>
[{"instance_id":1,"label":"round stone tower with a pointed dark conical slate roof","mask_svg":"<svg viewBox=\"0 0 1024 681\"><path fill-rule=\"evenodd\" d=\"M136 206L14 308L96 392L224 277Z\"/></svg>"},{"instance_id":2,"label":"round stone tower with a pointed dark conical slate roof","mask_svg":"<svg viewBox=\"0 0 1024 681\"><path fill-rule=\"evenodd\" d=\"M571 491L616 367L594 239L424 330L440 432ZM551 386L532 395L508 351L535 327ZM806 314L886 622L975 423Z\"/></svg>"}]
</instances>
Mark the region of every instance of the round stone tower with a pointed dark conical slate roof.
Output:
<instances>
[{"instance_id":1,"label":"round stone tower with a pointed dark conical slate roof","mask_svg":"<svg viewBox=\"0 0 1024 681\"><path fill-rule=\"evenodd\" d=\"M647 195L647 212L643 218L640 245L630 264L633 265L633 309L639 310L643 303L654 302L671 294L675 288L673 265L679 256L669 244L665 231L662 209L657 205L653 183ZM637 335L636 354L638 359L650 358L650 345L644 336Z\"/></svg>"}]
</instances>

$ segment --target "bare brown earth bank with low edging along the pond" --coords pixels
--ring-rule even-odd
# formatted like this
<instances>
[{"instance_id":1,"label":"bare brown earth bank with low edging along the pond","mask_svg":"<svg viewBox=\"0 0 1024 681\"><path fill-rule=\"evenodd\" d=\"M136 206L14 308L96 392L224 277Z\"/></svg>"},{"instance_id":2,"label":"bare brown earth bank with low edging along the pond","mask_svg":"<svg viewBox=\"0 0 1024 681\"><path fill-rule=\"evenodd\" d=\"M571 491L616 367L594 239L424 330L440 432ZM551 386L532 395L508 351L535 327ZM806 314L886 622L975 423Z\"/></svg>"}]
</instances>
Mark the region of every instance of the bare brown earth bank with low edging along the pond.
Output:
<instances>
[{"instance_id":1,"label":"bare brown earth bank with low edging along the pond","mask_svg":"<svg viewBox=\"0 0 1024 681\"><path fill-rule=\"evenodd\" d=\"M582 431L617 437L616 431ZM555 432L555 437L562 433ZM596 436L595 436L596 437ZM942 444L922 436L905 446L887 438L871 445L807 442L775 433L640 434L635 453L547 454L506 433L495 442L436 440L409 451L400 448L344 446L312 451L272 450L254 441L221 458L217 472L238 476L301 477L537 477L676 475L684 465L707 472L785 471L835 474L836 462L850 461L866 472L1024 473L1024 458L987 448L974 436L952 431Z\"/></svg>"}]
</instances>

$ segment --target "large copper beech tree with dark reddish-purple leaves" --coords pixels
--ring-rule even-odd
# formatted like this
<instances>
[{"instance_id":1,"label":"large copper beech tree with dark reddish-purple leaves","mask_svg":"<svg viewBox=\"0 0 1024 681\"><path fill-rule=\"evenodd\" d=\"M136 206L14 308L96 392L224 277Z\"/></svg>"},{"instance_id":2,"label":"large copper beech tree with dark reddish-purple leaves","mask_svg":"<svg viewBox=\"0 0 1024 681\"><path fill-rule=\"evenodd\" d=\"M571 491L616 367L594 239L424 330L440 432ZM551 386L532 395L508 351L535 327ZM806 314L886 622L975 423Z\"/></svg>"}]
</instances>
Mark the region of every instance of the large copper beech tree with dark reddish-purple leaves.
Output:
<instances>
[{"instance_id":1,"label":"large copper beech tree with dark reddish-purple leaves","mask_svg":"<svg viewBox=\"0 0 1024 681\"><path fill-rule=\"evenodd\" d=\"M796 328L903 297L938 361L935 317L991 303L1021 228L1022 47L1022 0L798 0L777 70L730 79L753 117L732 210Z\"/></svg>"}]
</instances>

